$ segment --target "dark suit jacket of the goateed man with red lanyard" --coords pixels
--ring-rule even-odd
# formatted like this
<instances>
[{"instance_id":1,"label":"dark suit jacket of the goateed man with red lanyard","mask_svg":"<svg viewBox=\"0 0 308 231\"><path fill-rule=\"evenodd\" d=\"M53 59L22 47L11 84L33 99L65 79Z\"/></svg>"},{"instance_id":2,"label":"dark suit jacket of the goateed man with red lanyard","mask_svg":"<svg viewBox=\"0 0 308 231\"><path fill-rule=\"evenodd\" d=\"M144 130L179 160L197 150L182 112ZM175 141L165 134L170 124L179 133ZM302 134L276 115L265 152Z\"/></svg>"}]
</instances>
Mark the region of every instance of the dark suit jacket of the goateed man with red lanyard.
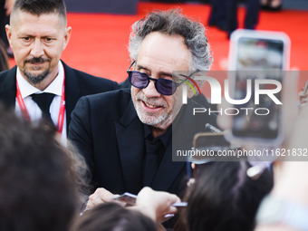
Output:
<instances>
[{"instance_id":1,"label":"dark suit jacket of the goateed man with red lanyard","mask_svg":"<svg viewBox=\"0 0 308 231\"><path fill-rule=\"evenodd\" d=\"M111 91L119 88L117 82L112 82L88 73L80 72L63 63L65 73L65 109L66 128L71 122L71 113L77 101L84 95ZM17 67L0 72L0 101L7 107L15 106Z\"/></svg>"}]
</instances>

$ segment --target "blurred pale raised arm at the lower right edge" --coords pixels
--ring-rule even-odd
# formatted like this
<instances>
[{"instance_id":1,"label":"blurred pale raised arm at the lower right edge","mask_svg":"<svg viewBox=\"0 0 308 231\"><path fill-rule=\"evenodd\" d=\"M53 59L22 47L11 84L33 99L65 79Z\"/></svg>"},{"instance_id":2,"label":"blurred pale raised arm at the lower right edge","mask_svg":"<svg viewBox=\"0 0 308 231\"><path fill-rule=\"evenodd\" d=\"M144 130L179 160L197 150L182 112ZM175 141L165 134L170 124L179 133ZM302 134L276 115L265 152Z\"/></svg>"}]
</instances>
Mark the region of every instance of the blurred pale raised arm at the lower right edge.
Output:
<instances>
[{"instance_id":1,"label":"blurred pale raised arm at the lower right edge","mask_svg":"<svg viewBox=\"0 0 308 231\"><path fill-rule=\"evenodd\" d=\"M308 106L296 119L287 149L308 149ZM307 154L307 153L306 153ZM308 161L275 163L275 184L262 202L255 231L308 230Z\"/></svg>"}]
</instances>

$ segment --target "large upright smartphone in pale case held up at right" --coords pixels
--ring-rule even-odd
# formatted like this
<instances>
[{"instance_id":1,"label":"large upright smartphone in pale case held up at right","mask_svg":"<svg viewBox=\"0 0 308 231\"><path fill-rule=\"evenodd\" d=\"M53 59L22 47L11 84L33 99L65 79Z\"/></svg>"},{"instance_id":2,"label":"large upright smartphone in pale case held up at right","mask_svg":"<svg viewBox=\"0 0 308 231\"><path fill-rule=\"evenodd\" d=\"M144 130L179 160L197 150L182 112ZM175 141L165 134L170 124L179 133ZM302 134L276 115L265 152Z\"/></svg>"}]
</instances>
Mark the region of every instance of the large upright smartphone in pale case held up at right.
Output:
<instances>
[{"instance_id":1,"label":"large upright smartphone in pale case held up at right","mask_svg":"<svg viewBox=\"0 0 308 231\"><path fill-rule=\"evenodd\" d=\"M228 140L282 140L282 85L290 39L282 32L236 30L230 38L228 82L235 112Z\"/></svg>"}]
</instances>

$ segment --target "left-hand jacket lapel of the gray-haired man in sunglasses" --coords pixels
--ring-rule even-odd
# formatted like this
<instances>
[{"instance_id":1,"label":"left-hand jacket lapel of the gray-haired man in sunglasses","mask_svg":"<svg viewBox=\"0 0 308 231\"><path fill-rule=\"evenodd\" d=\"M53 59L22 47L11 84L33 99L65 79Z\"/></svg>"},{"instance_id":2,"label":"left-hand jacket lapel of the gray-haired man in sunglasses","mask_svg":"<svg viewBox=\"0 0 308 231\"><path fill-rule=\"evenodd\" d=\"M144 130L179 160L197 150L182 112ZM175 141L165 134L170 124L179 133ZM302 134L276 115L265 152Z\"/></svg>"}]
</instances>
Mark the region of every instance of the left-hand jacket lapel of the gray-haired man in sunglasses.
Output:
<instances>
[{"instance_id":1,"label":"left-hand jacket lapel of the gray-haired man in sunglasses","mask_svg":"<svg viewBox=\"0 0 308 231\"><path fill-rule=\"evenodd\" d=\"M132 101L115 126L125 188L138 193L142 188L144 135Z\"/></svg>"}]
</instances>

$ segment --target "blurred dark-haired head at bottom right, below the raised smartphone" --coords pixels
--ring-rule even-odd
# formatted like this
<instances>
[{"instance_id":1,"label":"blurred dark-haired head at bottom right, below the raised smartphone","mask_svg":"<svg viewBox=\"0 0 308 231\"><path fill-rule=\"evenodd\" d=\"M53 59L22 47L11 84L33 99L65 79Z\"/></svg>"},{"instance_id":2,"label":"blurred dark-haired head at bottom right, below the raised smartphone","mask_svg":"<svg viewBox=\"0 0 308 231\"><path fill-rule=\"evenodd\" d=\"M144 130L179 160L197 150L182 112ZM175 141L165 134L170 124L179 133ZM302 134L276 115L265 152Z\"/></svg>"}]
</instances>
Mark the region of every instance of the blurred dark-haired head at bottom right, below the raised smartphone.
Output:
<instances>
[{"instance_id":1,"label":"blurred dark-haired head at bottom right, below the raised smartphone","mask_svg":"<svg viewBox=\"0 0 308 231\"><path fill-rule=\"evenodd\" d=\"M259 178L249 178L249 167L244 161L198 166L183 213L189 231L254 230L256 210L273 188L273 174L265 169Z\"/></svg>"}]
</instances>

